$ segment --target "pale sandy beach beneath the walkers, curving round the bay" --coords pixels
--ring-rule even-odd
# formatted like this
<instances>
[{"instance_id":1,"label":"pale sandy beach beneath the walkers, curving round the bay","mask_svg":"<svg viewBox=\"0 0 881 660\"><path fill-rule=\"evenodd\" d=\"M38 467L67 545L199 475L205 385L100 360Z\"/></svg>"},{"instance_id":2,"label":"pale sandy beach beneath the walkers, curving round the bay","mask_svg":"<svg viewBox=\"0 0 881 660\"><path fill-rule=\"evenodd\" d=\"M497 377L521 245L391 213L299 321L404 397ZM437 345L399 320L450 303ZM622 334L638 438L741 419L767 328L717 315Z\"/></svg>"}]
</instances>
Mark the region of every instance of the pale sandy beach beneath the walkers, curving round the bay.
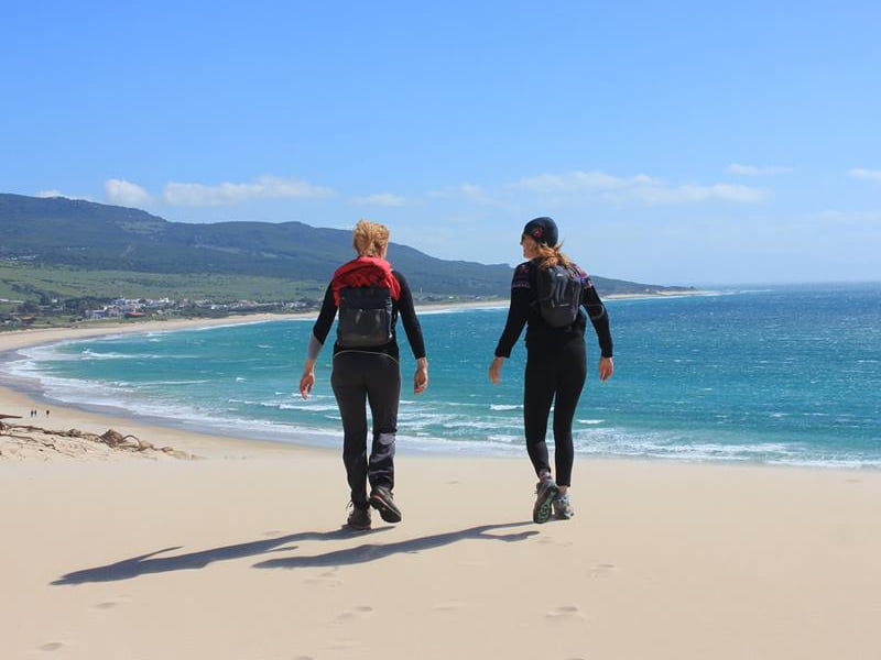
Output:
<instances>
[{"instance_id":1,"label":"pale sandy beach beneath the walkers, curving round the bay","mask_svg":"<svg viewBox=\"0 0 881 660\"><path fill-rule=\"evenodd\" d=\"M580 459L576 518L537 526L525 451L402 447L403 521L351 532L336 451L31 408L0 388L9 422L198 459L0 436L4 660L881 657L874 471Z\"/></svg>"}]
</instances>

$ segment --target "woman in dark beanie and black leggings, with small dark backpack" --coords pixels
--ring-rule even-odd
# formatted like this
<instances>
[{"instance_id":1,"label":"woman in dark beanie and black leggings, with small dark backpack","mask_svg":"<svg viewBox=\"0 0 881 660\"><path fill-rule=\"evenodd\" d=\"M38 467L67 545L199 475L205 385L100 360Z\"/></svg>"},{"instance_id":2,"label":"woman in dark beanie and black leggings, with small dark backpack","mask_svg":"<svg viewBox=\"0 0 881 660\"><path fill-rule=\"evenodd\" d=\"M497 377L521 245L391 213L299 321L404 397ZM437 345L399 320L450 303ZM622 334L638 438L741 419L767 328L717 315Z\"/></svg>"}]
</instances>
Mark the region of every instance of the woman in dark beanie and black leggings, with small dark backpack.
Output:
<instances>
[{"instance_id":1,"label":"woman in dark beanie and black leggings, with small dark backpack","mask_svg":"<svg viewBox=\"0 0 881 660\"><path fill-rule=\"evenodd\" d=\"M551 218L530 220L520 244L529 261L514 270L508 320L489 378L501 381L502 364L526 326L523 420L526 450L539 477L532 519L546 522L553 508L557 518L567 520L575 515L568 493L575 455L572 424L587 377L585 311L599 338L600 381L614 372L609 315L587 274L561 252L557 226ZM545 442L552 405L556 481Z\"/></svg>"}]
</instances>

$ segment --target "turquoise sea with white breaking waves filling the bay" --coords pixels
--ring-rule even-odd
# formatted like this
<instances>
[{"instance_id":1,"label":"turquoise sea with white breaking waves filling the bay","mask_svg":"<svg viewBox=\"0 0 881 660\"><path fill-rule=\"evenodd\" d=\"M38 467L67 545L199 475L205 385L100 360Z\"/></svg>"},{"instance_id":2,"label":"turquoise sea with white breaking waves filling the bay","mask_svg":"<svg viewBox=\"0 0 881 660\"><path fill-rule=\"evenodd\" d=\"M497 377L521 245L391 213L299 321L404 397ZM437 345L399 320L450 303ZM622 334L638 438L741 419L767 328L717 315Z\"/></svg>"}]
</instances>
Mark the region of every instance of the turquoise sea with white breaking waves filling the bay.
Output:
<instances>
[{"instance_id":1,"label":"turquoise sea with white breaking waves filling the bay","mask_svg":"<svg viewBox=\"0 0 881 660\"><path fill-rule=\"evenodd\" d=\"M881 466L881 286L608 301L616 375L589 380L576 450L607 457ZM521 453L522 341L487 378L504 309L422 314L428 392L401 332L400 447ZM312 321L152 332L28 349L4 371L45 396L184 426L337 444L329 348L296 392Z\"/></svg>"}]
</instances>

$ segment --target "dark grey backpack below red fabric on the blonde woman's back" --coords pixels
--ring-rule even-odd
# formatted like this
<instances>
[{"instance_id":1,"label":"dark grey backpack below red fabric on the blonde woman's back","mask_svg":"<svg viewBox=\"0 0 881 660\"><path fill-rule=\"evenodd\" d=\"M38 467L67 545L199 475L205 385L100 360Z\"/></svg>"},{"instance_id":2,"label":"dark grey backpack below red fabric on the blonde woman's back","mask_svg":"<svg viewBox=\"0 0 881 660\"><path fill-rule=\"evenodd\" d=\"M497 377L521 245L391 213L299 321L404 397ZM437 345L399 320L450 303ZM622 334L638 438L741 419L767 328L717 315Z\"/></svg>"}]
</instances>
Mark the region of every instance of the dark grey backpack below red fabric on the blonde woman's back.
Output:
<instances>
[{"instance_id":1,"label":"dark grey backpack below red fabric on the blonde woman's back","mask_svg":"<svg viewBox=\"0 0 881 660\"><path fill-rule=\"evenodd\" d=\"M337 343L344 349L382 346L392 340L392 296L388 287L339 292Z\"/></svg>"}]
</instances>

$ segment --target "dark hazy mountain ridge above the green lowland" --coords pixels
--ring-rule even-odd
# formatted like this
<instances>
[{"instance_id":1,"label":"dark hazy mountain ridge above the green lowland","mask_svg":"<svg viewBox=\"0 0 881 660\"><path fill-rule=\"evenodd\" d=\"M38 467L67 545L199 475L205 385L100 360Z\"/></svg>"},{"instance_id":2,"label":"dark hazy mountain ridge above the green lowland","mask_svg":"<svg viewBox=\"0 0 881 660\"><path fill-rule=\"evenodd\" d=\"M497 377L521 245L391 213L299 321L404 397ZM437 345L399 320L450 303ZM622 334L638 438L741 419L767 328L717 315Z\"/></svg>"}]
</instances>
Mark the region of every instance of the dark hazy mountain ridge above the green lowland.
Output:
<instances>
[{"instance_id":1,"label":"dark hazy mountain ridge above the green lowland","mask_svg":"<svg viewBox=\"0 0 881 660\"><path fill-rule=\"evenodd\" d=\"M392 243L390 256L414 292L505 296L507 264L447 261ZM0 258L87 271L222 274L326 282L352 257L351 232L302 222L170 222L139 209L0 194ZM683 287L594 277L600 294Z\"/></svg>"}]
</instances>

